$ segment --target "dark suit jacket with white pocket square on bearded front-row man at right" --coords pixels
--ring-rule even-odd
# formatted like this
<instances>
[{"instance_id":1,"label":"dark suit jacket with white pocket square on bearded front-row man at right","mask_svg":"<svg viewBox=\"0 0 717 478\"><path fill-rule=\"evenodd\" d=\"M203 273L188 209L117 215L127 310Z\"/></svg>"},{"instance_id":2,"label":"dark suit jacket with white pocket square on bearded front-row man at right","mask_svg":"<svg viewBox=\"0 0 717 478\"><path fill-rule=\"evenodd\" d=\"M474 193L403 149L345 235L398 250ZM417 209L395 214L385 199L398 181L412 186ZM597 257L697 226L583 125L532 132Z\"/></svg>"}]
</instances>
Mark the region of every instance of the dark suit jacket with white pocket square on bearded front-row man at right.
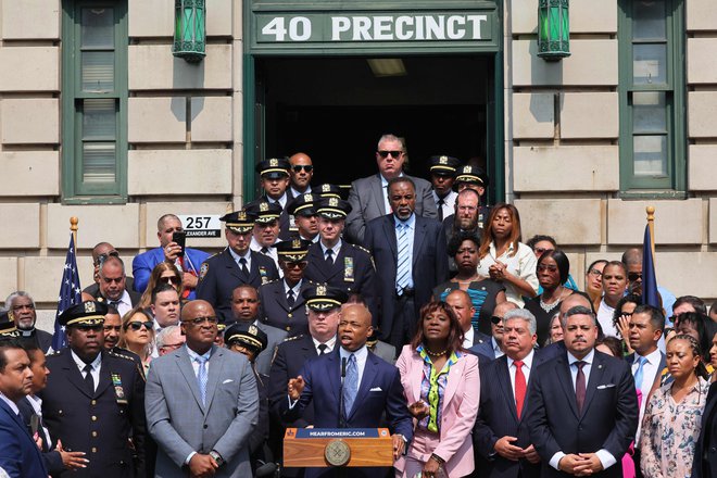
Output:
<instances>
[{"instance_id":1,"label":"dark suit jacket with white pocket square on bearded front-row man at right","mask_svg":"<svg viewBox=\"0 0 717 478\"><path fill-rule=\"evenodd\" d=\"M567 353L545 362L530 374L525 412L530 440L542 460L542 477L566 476L549 465L553 455L608 451L617 463L594 474L622 477L621 457L638 428L638 395L630 367L622 358L595 351L578 413Z\"/></svg>"}]
</instances>

